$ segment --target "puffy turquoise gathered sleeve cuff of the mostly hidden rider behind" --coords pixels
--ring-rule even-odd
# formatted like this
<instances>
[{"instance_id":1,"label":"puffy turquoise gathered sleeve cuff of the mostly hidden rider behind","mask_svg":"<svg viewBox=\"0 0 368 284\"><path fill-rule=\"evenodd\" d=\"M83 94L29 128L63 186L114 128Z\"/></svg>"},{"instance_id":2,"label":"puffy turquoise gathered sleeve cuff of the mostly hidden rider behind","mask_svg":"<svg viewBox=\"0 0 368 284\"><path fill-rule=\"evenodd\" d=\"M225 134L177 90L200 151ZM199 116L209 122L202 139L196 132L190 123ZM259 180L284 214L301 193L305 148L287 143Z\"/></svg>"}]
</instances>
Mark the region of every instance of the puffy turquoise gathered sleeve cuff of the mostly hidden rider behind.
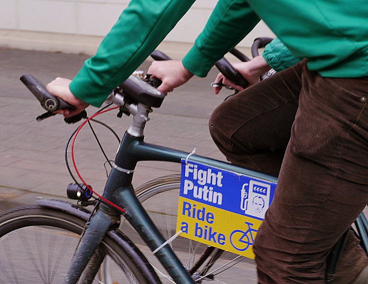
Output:
<instances>
[{"instance_id":1,"label":"puffy turquoise gathered sleeve cuff of the mostly hidden rider behind","mask_svg":"<svg viewBox=\"0 0 368 284\"><path fill-rule=\"evenodd\" d=\"M268 43L262 53L264 60L275 71L279 72L300 61L290 50L276 37Z\"/></svg>"}]
</instances>

